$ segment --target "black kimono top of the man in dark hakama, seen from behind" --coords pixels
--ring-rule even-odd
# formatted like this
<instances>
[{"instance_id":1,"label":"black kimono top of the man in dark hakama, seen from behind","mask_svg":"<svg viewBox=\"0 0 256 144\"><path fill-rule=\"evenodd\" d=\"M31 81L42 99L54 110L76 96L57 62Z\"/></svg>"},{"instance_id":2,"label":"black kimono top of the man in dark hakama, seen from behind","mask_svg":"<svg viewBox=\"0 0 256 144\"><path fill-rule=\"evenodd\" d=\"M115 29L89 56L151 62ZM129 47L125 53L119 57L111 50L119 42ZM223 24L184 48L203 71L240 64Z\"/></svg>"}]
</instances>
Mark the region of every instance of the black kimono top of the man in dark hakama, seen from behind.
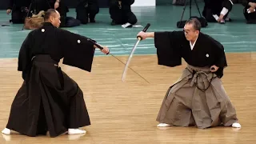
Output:
<instances>
[{"instance_id":1,"label":"black kimono top of the man in dark hakama, seen from behind","mask_svg":"<svg viewBox=\"0 0 256 144\"><path fill-rule=\"evenodd\" d=\"M86 37L45 22L41 28L31 31L22 43L18 70L25 72L30 69L30 62L35 55L49 54L56 62L64 58L63 64L90 72L94 50L94 45Z\"/></svg>"}]
</instances>

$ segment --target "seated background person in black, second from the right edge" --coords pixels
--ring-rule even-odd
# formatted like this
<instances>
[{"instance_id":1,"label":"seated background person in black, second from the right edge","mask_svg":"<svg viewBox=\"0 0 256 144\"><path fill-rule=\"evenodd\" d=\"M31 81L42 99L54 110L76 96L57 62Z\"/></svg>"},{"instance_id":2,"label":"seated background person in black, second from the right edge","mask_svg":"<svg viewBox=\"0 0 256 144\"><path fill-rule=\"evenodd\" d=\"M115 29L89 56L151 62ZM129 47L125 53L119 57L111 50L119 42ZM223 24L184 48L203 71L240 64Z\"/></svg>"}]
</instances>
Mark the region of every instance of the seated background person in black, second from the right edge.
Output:
<instances>
[{"instance_id":1,"label":"seated background person in black, second from the right edge","mask_svg":"<svg viewBox=\"0 0 256 144\"><path fill-rule=\"evenodd\" d=\"M205 6L202 15L207 22L219 22L224 24L230 22L228 17L233 7L232 0L204 0Z\"/></svg>"}]
</instances>

